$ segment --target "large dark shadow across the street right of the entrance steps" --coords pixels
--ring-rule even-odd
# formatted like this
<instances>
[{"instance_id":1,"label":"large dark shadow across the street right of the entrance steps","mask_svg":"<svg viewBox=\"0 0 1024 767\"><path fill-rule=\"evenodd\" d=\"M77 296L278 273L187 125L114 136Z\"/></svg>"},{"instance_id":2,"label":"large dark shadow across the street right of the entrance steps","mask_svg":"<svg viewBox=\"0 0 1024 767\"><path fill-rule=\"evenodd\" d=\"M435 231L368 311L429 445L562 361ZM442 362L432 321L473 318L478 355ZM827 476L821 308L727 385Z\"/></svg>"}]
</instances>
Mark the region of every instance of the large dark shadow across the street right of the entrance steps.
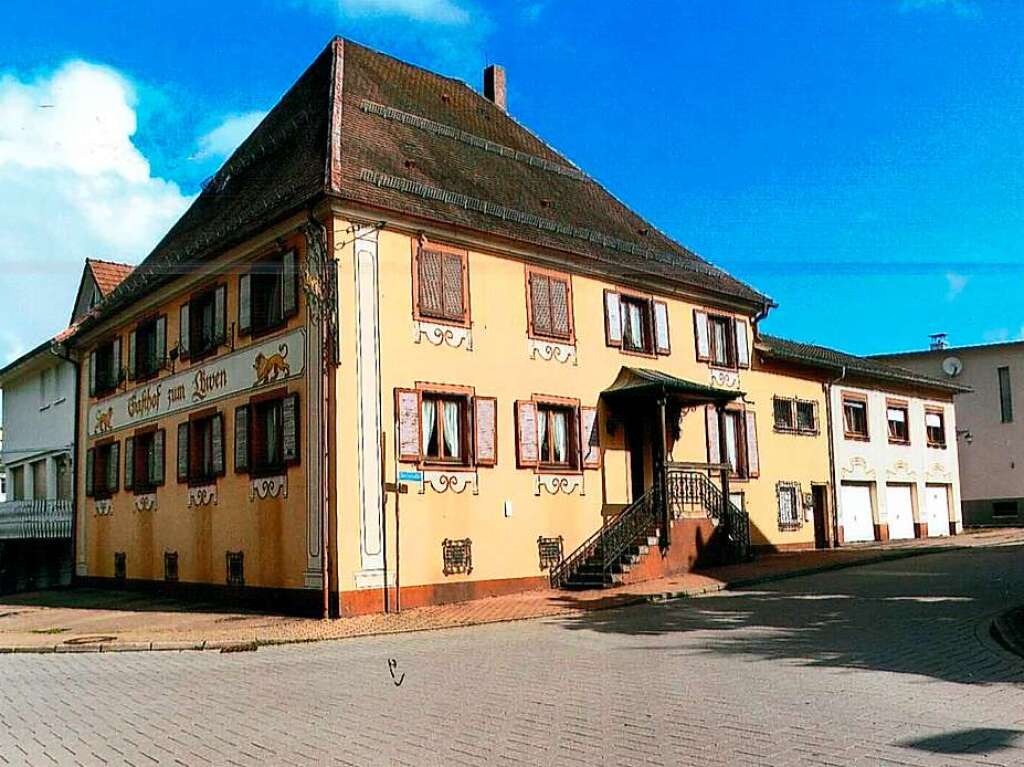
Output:
<instances>
[{"instance_id":1,"label":"large dark shadow across the street right of the entrance steps","mask_svg":"<svg viewBox=\"0 0 1024 767\"><path fill-rule=\"evenodd\" d=\"M571 605L572 598L562 599ZM976 630L1024 602L1024 546L974 549L780 581L750 591L558 619L570 631L688 635L645 649L757 656L815 667L919 674L965 684L1024 680ZM987 631L987 629L986 629Z\"/></svg>"}]
</instances>

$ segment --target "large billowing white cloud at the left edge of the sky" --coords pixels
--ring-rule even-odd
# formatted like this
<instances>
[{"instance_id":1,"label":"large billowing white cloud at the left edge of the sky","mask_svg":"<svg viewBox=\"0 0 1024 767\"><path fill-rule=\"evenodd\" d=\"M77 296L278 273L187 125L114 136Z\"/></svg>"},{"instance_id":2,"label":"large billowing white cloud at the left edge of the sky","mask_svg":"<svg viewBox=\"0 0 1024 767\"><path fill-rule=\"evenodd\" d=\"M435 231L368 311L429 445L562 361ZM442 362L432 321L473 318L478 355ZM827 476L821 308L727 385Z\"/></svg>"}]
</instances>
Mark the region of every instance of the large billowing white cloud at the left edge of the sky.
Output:
<instances>
[{"instance_id":1,"label":"large billowing white cloud at the left edge of the sky","mask_svg":"<svg viewBox=\"0 0 1024 767\"><path fill-rule=\"evenodd\" d=\"M112 69L0 78L0 365L66 327L86 257L139 261L190 202L153 175L135 129Z\"/></svg>"}]
</instances>

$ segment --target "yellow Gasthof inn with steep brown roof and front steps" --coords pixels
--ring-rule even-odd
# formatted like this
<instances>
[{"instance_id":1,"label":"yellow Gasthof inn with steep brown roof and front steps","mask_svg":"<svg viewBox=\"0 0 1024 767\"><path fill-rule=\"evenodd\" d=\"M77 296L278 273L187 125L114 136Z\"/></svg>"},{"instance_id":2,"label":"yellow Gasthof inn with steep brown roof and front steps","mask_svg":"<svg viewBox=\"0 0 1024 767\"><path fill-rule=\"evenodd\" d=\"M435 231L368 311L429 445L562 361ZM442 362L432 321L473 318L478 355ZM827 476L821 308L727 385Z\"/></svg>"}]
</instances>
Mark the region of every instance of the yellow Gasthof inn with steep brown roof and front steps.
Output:
<instances>
[{"instance_id":1,"label":"yellow Gasthof inn with steep brown roof and front steps","mask_svg":"<svg viewBox=\"0 0 1024 767\"><path fill-rule=\"evenodd\" d=\"M81 578L352 614L827 544L770 299L484 91L333 41L82 323Z\"/></svg>"}]
</instances>

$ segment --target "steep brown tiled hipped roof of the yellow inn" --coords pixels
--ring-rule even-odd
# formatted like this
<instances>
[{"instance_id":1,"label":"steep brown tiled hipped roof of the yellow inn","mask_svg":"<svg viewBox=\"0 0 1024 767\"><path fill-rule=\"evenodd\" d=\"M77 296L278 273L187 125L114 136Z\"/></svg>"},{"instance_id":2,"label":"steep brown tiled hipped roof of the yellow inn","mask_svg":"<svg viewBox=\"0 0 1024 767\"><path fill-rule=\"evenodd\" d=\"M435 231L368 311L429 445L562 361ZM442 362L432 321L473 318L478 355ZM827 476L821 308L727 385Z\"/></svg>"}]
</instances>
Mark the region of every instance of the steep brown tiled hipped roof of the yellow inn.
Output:
<instances>
[{"instance_id":1,"label":"steep brown tiled hipped roof of the yellow inn","mask_svg":"<svg viewBox=\"0 0 1024 767\"><path fill-rule=\"evenodd\" d=\"M326 197L382 218L398 213L556 249L753 308L771 304L465 83L336 38L104 301L100 318Z\"/></svg>"}]
</instances>

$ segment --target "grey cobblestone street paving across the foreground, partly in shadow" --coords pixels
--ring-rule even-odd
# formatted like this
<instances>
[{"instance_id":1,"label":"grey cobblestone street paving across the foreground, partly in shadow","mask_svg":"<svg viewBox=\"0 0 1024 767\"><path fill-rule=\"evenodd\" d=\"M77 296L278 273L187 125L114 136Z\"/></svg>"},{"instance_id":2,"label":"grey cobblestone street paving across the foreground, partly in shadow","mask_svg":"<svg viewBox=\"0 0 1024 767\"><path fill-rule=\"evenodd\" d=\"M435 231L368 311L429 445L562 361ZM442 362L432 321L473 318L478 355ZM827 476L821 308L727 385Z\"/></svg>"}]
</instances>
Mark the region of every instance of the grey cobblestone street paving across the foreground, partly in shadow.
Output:
<instances>
[{"instance_id":1,"label":"grey cobblestone street paving across the foreground, partly in shadow","mask_svg":"<svg viewBox=\"0 0 1024 767\"><path fill-rule=\"evenodd\" d=\"M250 653L3 655L0 765L1024 764L1024 662L987 635L1021 602L1007 546Z\"/></svg>"}]
</instances>

